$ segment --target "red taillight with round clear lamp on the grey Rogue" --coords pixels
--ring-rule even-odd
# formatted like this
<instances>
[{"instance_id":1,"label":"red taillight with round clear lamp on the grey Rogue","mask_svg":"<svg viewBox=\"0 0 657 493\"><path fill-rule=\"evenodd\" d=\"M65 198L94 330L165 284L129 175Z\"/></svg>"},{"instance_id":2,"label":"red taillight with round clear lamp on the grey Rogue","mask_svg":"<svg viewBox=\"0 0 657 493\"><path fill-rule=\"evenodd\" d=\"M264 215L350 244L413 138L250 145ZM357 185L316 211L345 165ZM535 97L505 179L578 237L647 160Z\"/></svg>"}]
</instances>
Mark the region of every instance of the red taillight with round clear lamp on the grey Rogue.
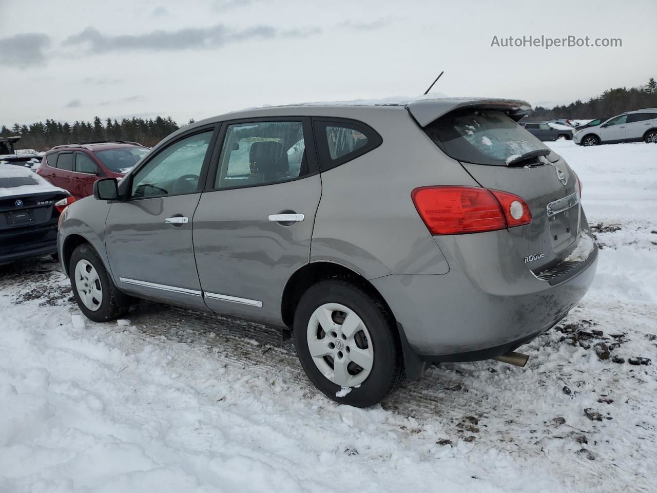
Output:
<instances>
[{"instance_id":1,"label":"red taillight with round clear lamp on the grey Rogue","mask_svg":"<svg viewBox=\"0 0 657 493\"><path fill-rule=\"evenodd\" d=\"M411 198L432 235L495 231L532 222L517 195L480 187L419 187Z\"/></svg>"}]
</instances>

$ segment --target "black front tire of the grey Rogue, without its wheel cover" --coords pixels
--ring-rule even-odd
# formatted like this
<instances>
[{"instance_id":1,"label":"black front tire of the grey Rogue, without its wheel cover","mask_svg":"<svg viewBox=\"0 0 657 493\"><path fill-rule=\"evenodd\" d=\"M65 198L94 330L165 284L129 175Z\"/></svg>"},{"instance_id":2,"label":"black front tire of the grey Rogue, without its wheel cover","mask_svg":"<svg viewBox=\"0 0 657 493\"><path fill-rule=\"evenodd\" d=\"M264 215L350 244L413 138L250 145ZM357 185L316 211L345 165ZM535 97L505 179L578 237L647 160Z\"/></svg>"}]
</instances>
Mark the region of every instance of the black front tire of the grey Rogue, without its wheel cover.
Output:
<instances>
[{"instance_id":1,"label":"black front tire of the grey Rogue, without its wheel cover","mask_svg":"<svg viewBox=\"0 0 657 493\"><path fill-rule=\"evenodd\" d=\"M78 293L75 272L76 266L80 260L86 260L89 262L91 265L93 265L98 273L98 280L101 285L103 296L102 302L97 310L90 310L87 308ZM73 250L73 254L71 255L71 259L68 264L68 273L71 279L71 287L73 288L73 296L76 298L79 309L85 315L85 317L95 322L105 322L117 319L127 314L130 306L120 304L117 301L118 293L116 288L110 281L110 278L107 275L107 271L105 270L105 266L102 264L101 258L98 256L96 250L94 250L90 245L85 243L83 245L79 245L78 248Z\"/></svg>"}]
</instances>

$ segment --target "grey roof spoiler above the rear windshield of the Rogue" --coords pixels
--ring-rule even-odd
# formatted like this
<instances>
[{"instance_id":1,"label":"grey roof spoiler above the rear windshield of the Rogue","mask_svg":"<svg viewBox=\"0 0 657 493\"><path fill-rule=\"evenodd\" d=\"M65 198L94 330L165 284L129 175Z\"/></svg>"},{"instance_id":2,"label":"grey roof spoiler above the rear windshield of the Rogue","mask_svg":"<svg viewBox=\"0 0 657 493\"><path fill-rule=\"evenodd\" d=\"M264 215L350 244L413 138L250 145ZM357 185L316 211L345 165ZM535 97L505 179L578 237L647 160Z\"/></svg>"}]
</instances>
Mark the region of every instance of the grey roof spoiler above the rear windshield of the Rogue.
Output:
<instances>
[{"instance_id":1,"label":"grey roof spoiler above the rear windshield of the Rogue","mask_svg":"<svg viewBox=\"0 0 657 493\"><path fill-rule=\"evenodd\" d=\"M517 122L529 113L532 105L520 99L445 98L413 101L413 103L408 103L406 108L420 127L426 127L444 114L462 108L502 111Z\"/></svg>"}]
</instances>

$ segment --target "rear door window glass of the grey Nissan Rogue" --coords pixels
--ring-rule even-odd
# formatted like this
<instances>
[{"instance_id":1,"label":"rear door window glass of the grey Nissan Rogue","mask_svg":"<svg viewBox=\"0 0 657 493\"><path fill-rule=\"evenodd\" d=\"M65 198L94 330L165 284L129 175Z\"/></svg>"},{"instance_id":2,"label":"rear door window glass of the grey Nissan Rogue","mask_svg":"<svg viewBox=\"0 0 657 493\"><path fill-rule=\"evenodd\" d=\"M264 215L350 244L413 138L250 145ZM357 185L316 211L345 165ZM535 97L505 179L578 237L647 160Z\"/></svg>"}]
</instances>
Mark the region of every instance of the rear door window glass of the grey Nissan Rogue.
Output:
<instances>
[{"instance_id":1,"label":"rear door window glass of the grey Nissan Rogue","mask_svg":"<svg viewBox=\"0 0 657 493\"><path fill-rule=\"evenodd\" d=\"M250 187L308 173L302 122L229 125L214 187Z\"/></svg>"}]
</instances>

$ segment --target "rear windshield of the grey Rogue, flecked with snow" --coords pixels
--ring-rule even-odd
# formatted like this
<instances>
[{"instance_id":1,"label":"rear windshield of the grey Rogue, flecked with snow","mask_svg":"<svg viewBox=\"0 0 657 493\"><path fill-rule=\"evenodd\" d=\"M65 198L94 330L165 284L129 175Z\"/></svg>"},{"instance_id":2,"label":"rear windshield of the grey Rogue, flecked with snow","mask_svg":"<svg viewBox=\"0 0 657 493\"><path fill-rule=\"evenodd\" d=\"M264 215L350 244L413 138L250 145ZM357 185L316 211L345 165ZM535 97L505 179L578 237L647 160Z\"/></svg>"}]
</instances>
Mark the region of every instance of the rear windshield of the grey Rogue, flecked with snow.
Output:
<instances>
[{"instance_id":1,"label":"rear windshield of the grey Rogue, flecked with snow","mask_svg":"<svg viewBox=\"0 0 657 493\"><path fill-rule=\"evenodd\" d=\"M549 149L499 111L454 111L432 122L424 131L448 156L474 164L507 166L522 154ZM547 157L551 161L558 159L555 153Z\"/></svg>"}]
</instances>

